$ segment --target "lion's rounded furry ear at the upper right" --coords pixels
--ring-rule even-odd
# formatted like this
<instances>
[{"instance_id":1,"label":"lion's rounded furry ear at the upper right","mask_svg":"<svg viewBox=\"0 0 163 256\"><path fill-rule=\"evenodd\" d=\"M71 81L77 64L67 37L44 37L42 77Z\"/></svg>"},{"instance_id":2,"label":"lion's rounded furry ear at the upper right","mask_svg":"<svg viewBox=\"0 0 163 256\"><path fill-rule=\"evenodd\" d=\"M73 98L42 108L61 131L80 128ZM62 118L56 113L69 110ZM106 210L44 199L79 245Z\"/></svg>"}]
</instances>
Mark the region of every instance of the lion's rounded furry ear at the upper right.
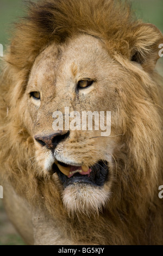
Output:
<instances>
[{"instance_id":1,"label":"lion's rounded furry ear at the upper right","mask_svg":"<svg viewBox=\"0 0 163 256\"><path fill-rule=\"evenodd\" d=\"M155 68L159 56L159 45L163 44L163 35L154 25L143 23L134 31L133 47L130 59L142 65L146 71Z\"/></svg>"}]
</instances>

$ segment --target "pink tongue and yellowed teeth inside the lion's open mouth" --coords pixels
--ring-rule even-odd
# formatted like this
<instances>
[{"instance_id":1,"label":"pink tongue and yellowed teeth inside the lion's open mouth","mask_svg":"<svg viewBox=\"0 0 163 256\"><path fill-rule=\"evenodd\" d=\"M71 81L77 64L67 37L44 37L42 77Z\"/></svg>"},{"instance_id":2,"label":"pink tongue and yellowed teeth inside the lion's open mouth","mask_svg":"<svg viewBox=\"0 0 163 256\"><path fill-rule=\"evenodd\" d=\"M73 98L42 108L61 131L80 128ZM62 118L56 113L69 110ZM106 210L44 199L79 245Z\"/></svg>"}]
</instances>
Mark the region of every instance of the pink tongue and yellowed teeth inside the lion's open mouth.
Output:
<instances>
[{"instance_id":1,"label":"pink tongue and yellowed teeth inside the lion's open mouth","mask_svg":"<svg viewBox=\"0 0 163 256\"><path fill-rule=\"evenodd\" d=\"M81 175L89 175L91 173L91 168L86 166L61 166L57 161L55 162L62 173L64 173L68 178L71 178L75 173L80 173Z\"/></svg>"}]
</instances>

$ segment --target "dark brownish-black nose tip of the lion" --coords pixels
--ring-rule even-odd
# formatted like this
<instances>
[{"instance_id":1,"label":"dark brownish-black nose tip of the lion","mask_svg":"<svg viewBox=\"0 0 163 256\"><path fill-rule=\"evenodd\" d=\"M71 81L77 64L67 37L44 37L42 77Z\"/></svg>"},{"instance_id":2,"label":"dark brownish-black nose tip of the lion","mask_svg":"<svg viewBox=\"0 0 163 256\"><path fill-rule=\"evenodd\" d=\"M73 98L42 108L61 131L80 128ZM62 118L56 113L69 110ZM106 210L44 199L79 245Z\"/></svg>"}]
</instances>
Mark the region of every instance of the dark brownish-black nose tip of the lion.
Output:
<instances>
[{"instance_id":1,"label":"dark brownish-black nose tip of the lion","mask_svg":"<svg viewBox=\"0 0 163 256\"><path fill-rule=\"evenodd\" d=\"M55 149L58 143L66 139L69 135L70 131L58 131L49 135L35 135L34 138L42 146L46 145L48 149Z\"/></svg>"}]
</instances>

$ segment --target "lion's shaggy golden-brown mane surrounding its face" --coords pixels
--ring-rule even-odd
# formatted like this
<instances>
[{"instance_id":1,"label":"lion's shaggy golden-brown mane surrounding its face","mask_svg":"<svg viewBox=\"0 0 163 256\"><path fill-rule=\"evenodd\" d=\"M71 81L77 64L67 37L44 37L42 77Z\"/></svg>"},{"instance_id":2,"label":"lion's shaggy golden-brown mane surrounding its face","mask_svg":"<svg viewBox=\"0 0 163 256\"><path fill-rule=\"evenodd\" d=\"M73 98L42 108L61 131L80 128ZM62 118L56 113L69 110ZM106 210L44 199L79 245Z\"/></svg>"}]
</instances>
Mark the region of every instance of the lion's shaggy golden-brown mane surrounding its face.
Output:
<instances>
[{"instance_id":1,"label":"lion's shaggy golden-brown mane surrounding its face","mask_svg":"<svg viewBox=\"0 0 163 256\"><path fill-rule=\"evenodd\" d=\"M150 47L143 47L141 41L137 48L143 58L142 71L134 69L125 60L133 54L133 31L141 25L142 21L135 19L127 2L39 1L31 3L28 16L17 23L4 57L0 88L2 178L8 179L29 203L48 212L74 241L86 239L88 244L101 245L157 244L162 241L161 199L158 198L158 187L163 184L160 78L151 71L153 57L147 59ZM137 77L142 91L137 92L141 95L140 100L130 88L126 89L130 103L120 109L122 115L118 121L124 134L121 154L115 155L114 197L98 216L78 214L72 218L62 206L61 185L54 184L51 176L40 175L33 163L33 138L26 127L25 102L20 104L20 99L36 56L51 42L61 44L78 33L101 38L111 56ZM155 34L148 46L159 43L160 36ZM131 114L136 112L136 115ZM127 123L123 122L124 115L129 117L125 117ZM153 235L150 237L149 234Z\"/></svg>"}]
</instances>

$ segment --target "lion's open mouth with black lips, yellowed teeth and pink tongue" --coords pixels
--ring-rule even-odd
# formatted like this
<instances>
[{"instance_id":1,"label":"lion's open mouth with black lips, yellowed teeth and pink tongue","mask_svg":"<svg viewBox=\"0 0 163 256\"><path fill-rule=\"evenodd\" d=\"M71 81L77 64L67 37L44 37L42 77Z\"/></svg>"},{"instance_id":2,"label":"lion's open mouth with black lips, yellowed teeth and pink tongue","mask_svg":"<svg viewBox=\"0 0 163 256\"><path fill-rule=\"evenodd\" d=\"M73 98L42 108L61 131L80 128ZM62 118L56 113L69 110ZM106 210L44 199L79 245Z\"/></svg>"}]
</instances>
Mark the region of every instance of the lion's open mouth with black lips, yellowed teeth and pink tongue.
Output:
<instances>
[{"instance_id":1,"label":"lion's open mouth with black lips, yellowed teeth and pink tongue","mask_svg":"<svg viewBox=\"0 0 163 256\"><path fill-rule=\"evenodd\" d=\"M59 161L53 164L53 172L57 172L60 181L67 187L78 183L88 183L93 186L103 186L108 178L108 165L104 161L99 161L90 167L71 166Z\"/></svg>"}]
</instances>

